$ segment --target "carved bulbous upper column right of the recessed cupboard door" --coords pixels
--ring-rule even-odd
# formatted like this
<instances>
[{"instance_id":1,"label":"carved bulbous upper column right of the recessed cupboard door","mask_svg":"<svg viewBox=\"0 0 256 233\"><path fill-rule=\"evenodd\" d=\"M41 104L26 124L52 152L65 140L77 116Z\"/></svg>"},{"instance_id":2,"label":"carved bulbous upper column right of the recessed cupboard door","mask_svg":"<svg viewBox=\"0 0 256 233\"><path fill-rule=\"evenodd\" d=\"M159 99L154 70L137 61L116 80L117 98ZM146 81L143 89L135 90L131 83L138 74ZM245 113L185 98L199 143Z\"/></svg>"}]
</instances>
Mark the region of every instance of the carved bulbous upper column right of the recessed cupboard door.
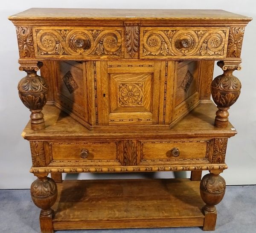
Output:
<instances>
[{"instance_id":1,"label":"carved bulbous upper column right of the recessed cupboard door","mask_svg":"<svg viewBox=\"0 0 256 233\"><path fill-rule=\"evenodd\" d=\"M218 111L215 117L215 126L225 128L228 124L228 109L239 98L241 83L238 78L233 75L233 71L241 69L239 65L228 65L223 61L218 61L224 73L217 76L212 81L212 99L217 104Z\"/></svg>"}]
</instances>

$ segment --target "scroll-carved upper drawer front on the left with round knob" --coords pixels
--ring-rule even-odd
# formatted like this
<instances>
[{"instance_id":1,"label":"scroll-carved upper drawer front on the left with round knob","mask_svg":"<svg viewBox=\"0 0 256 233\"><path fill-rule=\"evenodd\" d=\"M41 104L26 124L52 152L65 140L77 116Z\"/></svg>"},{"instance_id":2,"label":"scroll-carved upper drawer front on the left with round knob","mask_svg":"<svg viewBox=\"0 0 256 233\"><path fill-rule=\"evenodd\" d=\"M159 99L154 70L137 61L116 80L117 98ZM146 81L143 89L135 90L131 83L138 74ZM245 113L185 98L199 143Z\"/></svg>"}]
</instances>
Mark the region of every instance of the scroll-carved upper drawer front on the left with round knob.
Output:
<instances>
[{"instance_id":1,"label":"scroll-carved upper drawer front on the left with round knob","mask_svg":"<svg viewBox=\"0 0 256 233\"><path fill-rule=\"evenodd\" d=\"M35 58L123 58L123 27L33 27Z\"/></svg>"}]
</instances>

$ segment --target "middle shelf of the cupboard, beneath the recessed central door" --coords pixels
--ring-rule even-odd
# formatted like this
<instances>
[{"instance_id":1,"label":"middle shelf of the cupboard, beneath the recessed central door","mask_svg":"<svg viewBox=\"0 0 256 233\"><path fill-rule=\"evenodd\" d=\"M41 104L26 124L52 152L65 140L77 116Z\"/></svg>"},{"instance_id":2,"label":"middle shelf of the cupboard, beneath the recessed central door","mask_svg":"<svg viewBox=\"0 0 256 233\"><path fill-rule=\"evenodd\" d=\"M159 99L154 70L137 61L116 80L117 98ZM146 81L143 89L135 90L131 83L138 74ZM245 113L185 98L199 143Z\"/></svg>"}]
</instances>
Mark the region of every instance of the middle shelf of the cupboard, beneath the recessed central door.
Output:
<instances>
[{"instance_id":1,"label":"middle shelf of the cupboard, beneath the recessed central door","mask_svg":"<svg viewBox=\"0 0 256 233\"><path fill-rule=\"evenodd\" d=\"M27 124L22 136L25 139L35 140L70 140L79 138L81 140L95 139L114 139L114 138L147 138L155 139L156 131L153 129L145 129L144 126L127 127L118 126L105 127L102 129L89 130L76 120L61 112L55 106L44 107L44 118L46 128L40 131L31 129L30 124ZM186 117L179 121L171 129L158 129L157 138L215 138L215 137L232 137L236 135L236 129L229 123L226 128L218 128L214 126L216 107L213 103L200 104L192 110ZM143 132L143 133L142 133Z\"/></svg>"}]
</instances>

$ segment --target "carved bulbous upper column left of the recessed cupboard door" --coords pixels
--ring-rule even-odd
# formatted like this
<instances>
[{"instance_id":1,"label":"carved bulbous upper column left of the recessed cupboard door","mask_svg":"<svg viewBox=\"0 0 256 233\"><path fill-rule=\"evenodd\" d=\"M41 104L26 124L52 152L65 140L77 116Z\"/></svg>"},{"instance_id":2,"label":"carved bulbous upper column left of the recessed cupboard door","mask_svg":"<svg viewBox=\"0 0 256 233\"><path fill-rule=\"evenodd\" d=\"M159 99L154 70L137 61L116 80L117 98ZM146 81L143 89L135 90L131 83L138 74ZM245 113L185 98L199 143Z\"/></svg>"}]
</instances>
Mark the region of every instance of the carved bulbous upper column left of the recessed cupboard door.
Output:
<instances>
[{"instance_id":1,"label":"carved bulbous upper column left of the recessed cupboard door","mask_svg":"<svg viewBox=\"0 0 256 233\"><path fill-rule=\"evenodd\" d=\"M18 83L20 100L31 112L31 129L44 129L44 114L41 111L47 102L48 86L45 79L36 73L42 63L20 64L20 70L27 73Z\"/></svg>"}]
</instances>

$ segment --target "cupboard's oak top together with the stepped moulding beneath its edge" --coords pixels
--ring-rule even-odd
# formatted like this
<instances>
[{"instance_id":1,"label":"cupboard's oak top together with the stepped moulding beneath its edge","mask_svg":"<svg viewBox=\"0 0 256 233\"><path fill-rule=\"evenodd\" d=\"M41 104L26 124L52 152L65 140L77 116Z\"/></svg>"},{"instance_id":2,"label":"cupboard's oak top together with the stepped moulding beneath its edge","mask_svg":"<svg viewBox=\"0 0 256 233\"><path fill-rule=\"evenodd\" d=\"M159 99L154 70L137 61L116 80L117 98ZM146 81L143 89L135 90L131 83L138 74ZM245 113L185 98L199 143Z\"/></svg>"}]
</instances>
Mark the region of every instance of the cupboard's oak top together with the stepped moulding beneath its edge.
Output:
<instances>
[{"instance_id":1,"label":"cupboard's oak top together with the stepped moulding beneath its edge","mask_svg":"<svg viewBox=\"0 0 256 233\"><path fill-rule=\"evenodd\" d=\"M246 25L252 18L223 10L177 10L177 9L61 9L31 8L9 17L13 23L47 24L52 22L67 26L85 26L95 22L109 26L122 26L123 21L141 21L142 26L167 25Z\"/></svg>"}]
</instances>

